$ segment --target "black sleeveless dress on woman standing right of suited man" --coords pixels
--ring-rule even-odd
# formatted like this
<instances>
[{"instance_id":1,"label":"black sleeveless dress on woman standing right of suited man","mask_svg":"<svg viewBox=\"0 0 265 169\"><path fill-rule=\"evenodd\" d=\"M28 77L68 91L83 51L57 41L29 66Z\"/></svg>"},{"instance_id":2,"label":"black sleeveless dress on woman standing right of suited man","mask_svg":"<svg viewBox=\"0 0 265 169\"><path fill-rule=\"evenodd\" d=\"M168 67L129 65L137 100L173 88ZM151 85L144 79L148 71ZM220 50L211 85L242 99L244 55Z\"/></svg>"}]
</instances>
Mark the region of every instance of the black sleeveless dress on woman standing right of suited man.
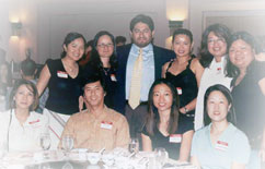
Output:
<instances>
[{"instance_id":1,"label":"black sleeveless dress on woman standing right of suited man","mask_svg":"<svg viewBox=\"0 0 265 169\"><path fill-rule=\"evenodd\" d=\"M173 61L174 60L170 62L166 69L165 79L176 87L177 94L180 96L180 107L182 108L197 97L197 80L193 71L189 69L192 59L188 61L186 69L177 75L169 72L169 69L172 65ZM187 120L194 125L194 113L195 109L189 110L186 114L180 113L180 119L184 121Z\"/></svg>"}]
</instances>

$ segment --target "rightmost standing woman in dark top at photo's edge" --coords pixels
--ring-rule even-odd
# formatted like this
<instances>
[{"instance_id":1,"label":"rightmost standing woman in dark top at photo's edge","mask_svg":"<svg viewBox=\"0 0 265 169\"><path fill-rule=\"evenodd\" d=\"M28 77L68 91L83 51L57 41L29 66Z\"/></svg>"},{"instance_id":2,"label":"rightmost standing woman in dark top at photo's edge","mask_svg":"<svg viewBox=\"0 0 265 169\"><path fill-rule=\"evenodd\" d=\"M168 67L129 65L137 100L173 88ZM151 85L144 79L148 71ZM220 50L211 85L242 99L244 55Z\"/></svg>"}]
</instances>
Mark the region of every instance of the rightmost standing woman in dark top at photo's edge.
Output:
<instances>
[{"instance_id":1,"label":"rightmost standing woman in dark top at photo's edge","mask_svg":"<svg viewBox=\"0 0 265 169\"><path fill-rule=\"evenodd\" d=\"M265 158L265 64L255 61L255 48L252 35L234 33L229 45L227 71L228 76L233 77L237 126L247 135L252 155L261 150Z\"/></svg>"}]
</instances>

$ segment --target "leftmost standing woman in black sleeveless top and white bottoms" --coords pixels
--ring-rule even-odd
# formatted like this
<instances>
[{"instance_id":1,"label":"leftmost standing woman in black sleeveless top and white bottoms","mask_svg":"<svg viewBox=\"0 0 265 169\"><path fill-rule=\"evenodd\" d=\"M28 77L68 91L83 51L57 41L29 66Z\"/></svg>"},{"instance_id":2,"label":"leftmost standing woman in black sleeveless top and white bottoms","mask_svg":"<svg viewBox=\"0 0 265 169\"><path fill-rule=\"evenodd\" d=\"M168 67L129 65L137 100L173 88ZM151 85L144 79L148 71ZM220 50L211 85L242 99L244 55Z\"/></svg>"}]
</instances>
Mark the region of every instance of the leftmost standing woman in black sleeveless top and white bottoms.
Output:
<instances>
[{"instance_id":1,"label":"leftmost standing woman in black sleeveless top and white bottoms","mask_svg":"<svg viewBox=\"0 0 265 169\"><path fill-rule=\"evenodd\" d=\"M37 82L39 95L49 88L44 113L49 117L51 148L57 147L68 118L79 111L82 75L77 61L83 56L84 43L81 34L69 33L62 44L61 59L48 60Z\"/></svg>"}]
</instances>

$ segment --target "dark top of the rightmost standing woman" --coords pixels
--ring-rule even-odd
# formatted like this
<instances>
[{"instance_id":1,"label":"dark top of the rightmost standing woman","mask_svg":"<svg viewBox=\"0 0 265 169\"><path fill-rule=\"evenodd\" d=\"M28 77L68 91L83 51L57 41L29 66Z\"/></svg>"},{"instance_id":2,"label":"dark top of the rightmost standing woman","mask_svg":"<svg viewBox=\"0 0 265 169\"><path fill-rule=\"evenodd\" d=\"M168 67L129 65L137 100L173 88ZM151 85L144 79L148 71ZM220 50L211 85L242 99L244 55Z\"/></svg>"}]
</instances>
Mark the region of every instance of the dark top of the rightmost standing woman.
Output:
<instances>
[{"instance_id":1,"label":"dark top of the rightmost standing woman","mask_svg":"<svg viewBox=\"0 0 265 169\"><path fill-rule=\"evenodd\" d=\"M265 96L258 86L264 77L264 62L253 61L239 85L234 86L235 79L231 82L237 126L246 134L253 147L261 145L257 137L265 124Z\"/></svg>"}]
</instances>

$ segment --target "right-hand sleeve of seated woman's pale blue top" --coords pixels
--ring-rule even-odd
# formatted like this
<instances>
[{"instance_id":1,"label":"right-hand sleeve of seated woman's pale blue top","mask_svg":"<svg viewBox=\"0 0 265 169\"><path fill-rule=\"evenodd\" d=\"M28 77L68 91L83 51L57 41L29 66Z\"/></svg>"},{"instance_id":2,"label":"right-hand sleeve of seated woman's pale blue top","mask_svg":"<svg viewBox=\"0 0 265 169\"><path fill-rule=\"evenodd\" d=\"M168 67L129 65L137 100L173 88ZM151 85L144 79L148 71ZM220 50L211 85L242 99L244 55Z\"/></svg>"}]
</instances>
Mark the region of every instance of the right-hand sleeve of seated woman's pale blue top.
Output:
<instances>
[{"instance_id":1,"label":"right-hand sleeve of seated woman's pale blue top","mask_svg":"<svg viewBox=\"0 0 265 169\"><path fill-rule=\"evenodd\" d=\"M249 140L244 133L239 131L232 143L232 160L239 164L247 164L251 154Z\"/></svg>"}]
</instances>

